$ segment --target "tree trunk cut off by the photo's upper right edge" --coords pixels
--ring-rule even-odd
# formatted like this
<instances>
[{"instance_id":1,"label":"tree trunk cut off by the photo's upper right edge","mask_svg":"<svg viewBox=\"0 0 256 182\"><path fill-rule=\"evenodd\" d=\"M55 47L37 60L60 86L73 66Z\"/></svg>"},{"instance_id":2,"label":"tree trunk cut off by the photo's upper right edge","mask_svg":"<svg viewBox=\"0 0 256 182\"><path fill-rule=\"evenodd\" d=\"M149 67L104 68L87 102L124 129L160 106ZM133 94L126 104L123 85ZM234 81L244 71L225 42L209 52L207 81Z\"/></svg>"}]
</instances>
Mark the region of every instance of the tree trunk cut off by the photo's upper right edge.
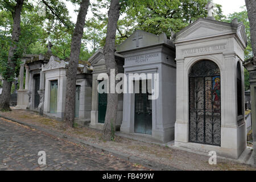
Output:
<instances>
[{"instance_id":1,"label":"tree trunk cut off by the photo's upper right edge","mask_svg":"<svg viewBox=\"0 0 256 182\"><path fill-rule=\"evenodd\" d=\"M253 51L253 59L256 61L256 0L245 0L245 4L250 22L251 49Z\"/></svg>"}]
</instances>

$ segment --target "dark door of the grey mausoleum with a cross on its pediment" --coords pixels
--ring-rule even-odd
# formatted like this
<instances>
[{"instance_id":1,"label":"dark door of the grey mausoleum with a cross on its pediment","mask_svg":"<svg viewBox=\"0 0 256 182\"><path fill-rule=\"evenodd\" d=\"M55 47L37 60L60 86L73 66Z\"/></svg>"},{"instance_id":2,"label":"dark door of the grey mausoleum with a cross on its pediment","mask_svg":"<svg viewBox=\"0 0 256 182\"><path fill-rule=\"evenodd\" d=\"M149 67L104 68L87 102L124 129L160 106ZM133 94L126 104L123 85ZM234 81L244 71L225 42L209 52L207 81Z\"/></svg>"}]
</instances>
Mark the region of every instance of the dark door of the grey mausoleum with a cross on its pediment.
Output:
<instances>
[{"instance_id":1,"label":"dark door of the grey mausoleum with a cross on its pediment","mask_svg":"<svg viewBox=\"0 0 256 182\"><path fill-rule=\"evenodd\" d=\"M134 132L152 134L152 100L148 92L142 93L142 81L139 82L139 93L135 93Z\"/></svg>"}]
</instances>

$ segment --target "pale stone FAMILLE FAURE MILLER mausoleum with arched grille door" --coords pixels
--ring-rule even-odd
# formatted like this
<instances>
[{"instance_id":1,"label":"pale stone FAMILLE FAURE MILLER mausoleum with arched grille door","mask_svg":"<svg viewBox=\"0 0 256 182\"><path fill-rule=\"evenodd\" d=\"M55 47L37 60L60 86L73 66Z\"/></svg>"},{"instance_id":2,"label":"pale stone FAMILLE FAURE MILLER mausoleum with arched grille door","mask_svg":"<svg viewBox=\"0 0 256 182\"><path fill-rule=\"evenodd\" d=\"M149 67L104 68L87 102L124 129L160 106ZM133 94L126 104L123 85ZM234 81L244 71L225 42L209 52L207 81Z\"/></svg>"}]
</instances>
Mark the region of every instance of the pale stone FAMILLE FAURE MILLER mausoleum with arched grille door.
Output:
<instances>
[{"instance_id":1,"label":"pale stone FAMILLE FAURE MILLER mausoleum with arched grille door","mask_svg":"<svg viewBox=\"0 0 256 182\"><path fill-rule=\"evenodd\" d=\"M246 148L242 23L199 18L175 35L175 146L238 158Z\"/></svg>"}]
</instances>

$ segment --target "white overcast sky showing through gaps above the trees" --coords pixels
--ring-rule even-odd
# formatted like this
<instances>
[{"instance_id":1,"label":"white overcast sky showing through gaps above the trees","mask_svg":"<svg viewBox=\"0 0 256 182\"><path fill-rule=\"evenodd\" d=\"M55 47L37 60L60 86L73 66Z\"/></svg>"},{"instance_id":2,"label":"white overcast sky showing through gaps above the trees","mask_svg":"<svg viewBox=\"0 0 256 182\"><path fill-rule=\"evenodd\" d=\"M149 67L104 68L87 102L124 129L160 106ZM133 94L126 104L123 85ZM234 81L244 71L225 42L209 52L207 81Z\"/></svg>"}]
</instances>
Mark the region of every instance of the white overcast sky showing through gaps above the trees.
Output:
<instances>
[{"instance_id":1,"label":"white overcast sky showing through gaps above the trees","mask_svg":"<svg viewBox=\"0 0 256 182\"><path fill-rule=\"evenodd\" d=\"M64 1L64 0L63 0ZM95 0L91 0L95 1ZM79 9L79 6L74 6L71 2L65 1L69 10L69 15L71 16L72 22L76 22L77 13L75 13L75 9ZM234 12L241 11L240 7L245 5L245 0L213 0L213 3L217 3L219 5L222 5L222 11L224 15L229 15ZM107 13L108 10L103 10ZM87 18L92 17L92 11L88 11L88 15L86 15Z\"/></svg>"}]
</instances>

